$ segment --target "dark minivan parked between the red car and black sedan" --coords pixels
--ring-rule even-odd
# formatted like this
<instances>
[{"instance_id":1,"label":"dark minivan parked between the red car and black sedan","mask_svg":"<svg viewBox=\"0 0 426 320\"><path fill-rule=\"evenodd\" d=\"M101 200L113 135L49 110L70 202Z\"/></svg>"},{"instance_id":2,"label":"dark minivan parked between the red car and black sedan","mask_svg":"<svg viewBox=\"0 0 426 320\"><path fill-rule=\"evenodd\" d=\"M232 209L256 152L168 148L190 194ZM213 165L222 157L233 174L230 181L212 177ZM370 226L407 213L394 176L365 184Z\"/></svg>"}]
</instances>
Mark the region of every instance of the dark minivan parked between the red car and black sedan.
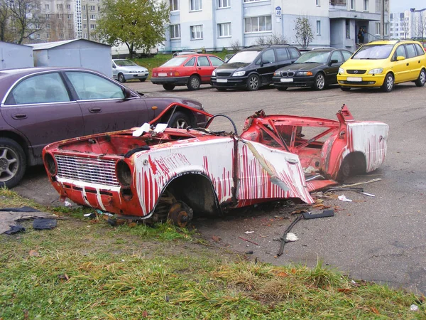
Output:
<instances>
[{"instance_id":1,"label":"dark minivan parked between the red car and black sedan","mask_svg":"<svg viewBox=\"0 0 426 320\"><path fill-rule=\"evenodd\" d=\"M275 70L290 65L300 57L294 46L251 46L239 51L212 73L210 84L219 91L241 88L258 90L270 85Z\"/></svg>"}]
</instances>

